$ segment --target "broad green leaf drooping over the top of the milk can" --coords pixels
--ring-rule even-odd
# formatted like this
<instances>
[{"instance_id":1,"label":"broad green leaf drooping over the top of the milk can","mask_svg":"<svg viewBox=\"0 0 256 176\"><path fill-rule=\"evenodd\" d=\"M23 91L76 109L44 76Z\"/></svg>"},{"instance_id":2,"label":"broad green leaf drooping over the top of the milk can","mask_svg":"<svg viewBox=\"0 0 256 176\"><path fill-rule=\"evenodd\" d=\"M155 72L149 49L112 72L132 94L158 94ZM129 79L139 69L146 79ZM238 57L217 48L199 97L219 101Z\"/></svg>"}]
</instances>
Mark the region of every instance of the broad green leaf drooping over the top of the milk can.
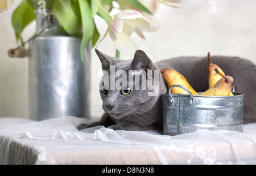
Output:
<instances>
[{"instance_id":1,"label":"broad green leaf drooping over the top of the milk can","mask_svg":"<svg viewBox=\"0 0 256 176\"><path fill-rule=\"evenodd\" d=\"M72 8L69 8L68 12L60 0L55 0L52 7L52 12L59 24L64 28L65 32L67 32L69 35L76 35L77 33L80 33L81 28L79 19Z\"/></svg>"}]
</instances>

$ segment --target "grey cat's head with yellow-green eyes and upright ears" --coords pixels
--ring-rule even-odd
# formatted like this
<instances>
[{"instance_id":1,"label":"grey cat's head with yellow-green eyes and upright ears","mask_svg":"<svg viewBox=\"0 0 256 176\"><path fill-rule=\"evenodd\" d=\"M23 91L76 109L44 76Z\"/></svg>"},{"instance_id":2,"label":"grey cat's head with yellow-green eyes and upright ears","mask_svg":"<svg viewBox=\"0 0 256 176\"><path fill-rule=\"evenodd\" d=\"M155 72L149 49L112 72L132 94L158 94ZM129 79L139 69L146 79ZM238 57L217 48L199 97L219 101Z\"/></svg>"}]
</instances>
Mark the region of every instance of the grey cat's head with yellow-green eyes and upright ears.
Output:
<instances>
[{"instance_id":1,"label":"grey cat's head with yellow-green eyes and upright ears","mask_svg":"<svg viewBox=\"0 0 256 176\"><path fill-rule=\"evenodd\" d=\"M137 50L130 60L109 57L97 49L96 53L104 72L100 82L102 108L114 119L138 114L143 117L162 94L159 92L159 78L162 79L159 68L142 50Z\"/></svg>"}]
</instances>

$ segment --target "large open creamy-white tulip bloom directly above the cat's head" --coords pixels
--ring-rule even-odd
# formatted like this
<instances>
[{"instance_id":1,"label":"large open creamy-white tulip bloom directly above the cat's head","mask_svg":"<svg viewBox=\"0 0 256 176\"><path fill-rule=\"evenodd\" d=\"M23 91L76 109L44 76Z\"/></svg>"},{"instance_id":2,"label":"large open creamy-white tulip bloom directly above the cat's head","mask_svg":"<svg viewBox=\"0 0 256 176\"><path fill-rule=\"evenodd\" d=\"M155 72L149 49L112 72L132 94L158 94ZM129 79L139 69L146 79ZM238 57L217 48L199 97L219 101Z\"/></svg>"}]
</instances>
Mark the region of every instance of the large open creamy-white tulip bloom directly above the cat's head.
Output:
<instances>
[{"instance_id":1,"label":"large open creamy-white tulip bloom directly above the cat's head","mask_svg":"<svg viewBox=\"0 0 256 176\"><path fill-rule=\"evenodd\" d=\"M104 38L109 33L115 48L121 53L130 55L137 49L136 43L130 38L131 33L134 31L142 33L142 31L148 29L150 29L150 22L140 12L123 10L109 21L108 31Z\"/></svg>"}]
</instances>

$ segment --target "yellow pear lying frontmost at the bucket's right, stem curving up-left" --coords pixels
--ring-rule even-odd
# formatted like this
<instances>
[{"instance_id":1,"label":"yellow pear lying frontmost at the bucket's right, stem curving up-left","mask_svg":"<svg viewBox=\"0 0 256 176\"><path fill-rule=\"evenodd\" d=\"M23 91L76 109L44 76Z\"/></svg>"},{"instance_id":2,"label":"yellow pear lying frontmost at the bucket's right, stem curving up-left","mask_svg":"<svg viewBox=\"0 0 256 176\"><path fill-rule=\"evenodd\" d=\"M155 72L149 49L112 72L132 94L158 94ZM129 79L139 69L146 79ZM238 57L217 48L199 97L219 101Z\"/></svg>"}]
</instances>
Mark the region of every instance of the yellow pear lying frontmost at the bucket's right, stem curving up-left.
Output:
<instances>
[{"instance_id":1,"label":"yellow pear lying frontmost at the bucket's right, stem curving up-left","mask_svg":"<svg viewBox=\"0 0 256 176\"><path fill-rule=\"evenodd\" d=\"M210 87L207 91L201 93L200 95L208 95L208 96L229 96L232 90L234 79L232 76L224 76L221 74L217 68L214 69L217 74L220 74L222 78L217 81L212 87Z\"/></svg>"}]
</instances>

